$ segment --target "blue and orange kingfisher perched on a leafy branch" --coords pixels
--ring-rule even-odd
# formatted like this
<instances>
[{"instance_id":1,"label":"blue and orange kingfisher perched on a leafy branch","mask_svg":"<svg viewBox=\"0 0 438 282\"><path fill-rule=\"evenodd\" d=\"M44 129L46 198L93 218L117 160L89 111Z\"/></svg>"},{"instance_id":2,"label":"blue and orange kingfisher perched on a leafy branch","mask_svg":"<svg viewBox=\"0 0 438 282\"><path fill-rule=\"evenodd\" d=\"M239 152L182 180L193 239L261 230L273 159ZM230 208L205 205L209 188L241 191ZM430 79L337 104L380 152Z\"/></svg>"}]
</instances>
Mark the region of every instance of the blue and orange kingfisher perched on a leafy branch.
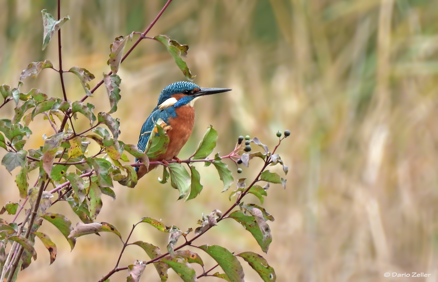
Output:
<instances>
[{"instance_id":1,"label":"blue and orange kingfisher perched on a leafy branch","mask_svg":"<svg viewBox=\"0 0 438 282\"><path fill-rule=\"evenodd\" d=\"M138 149L145 151L149 136L154 128L155 122L162 119L170 129L166 134L169 136L169 144L166 152L150 159L153 161L170 161L178 160L178 153L188 138L193 129L194 124L194 102L201 96L211 95L216 93L227 92L230 88L201 88L193 82L178 81L172 83L161 91L158 97L157 106L152 110L148 119L141 127L140 136L138 137ZM137 162L138 160L135 159ZM146 166L138 166L135 168L138 179L146 173L154 169L158 165L150 165L149 169Z\"/></svg>"}]
</instances>

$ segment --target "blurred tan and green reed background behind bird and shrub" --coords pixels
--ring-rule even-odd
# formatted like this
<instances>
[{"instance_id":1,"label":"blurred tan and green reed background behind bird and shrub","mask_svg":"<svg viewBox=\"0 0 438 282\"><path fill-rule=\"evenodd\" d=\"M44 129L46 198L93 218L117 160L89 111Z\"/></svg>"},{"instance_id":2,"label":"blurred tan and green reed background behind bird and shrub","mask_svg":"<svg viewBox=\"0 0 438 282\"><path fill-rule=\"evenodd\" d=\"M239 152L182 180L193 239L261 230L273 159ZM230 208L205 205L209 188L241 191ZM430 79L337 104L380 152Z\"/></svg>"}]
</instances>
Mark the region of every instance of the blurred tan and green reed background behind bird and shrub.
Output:
<instances>
[{"instance_id":1,"label":"blurred tan and green reed background behind bird and shrub","mask_svg":"<svg viewBox=\"0 0 438 282\"><path fill-rule=\"evenodd\" d=\"M98 77L92 86L109 71L113 39L143 31L165 3L61 2L62 15L71 18L62 27L64 69L87 68ZM56 41L41 51L44 8L56 14L56 1L0 1L1 84L15 86L32 61L49 59L57 66ZM431 0L174 0L149 32L190 46L187 63L197 75L195 83L233 88L197 102L194 133L180 158L191 154L208 124L219 132L215 152L222 153L234 148L238 135L257 136L273 148L276 131L291 130L279 148L290 165L287 189L272 185L264 205L276 218L264 256L278 281L437 281L437 9L438 1ZM137 144L161 89L184 77L164 47L147 39L119 75L120 139ZM64 78L69 99L80 99L84 92L77 78ZM28 78L22 90L32 87L62 96L59 76L51 70ZM103 87L87 101L96 105L96 113L109 110ZM13 113L12 104L7 106L3 118ZM87 122L78 120L76 127ZM31 129L25 148L42 145L42 134L52 132L43 120L35 120ZM253 177L259 166L253 160L242 177ZM98 220L113 223L125 238L142 216L182 230L196 227L201 213L230 206L215 170L197 168L204 190L196 199L176 201L177 191L159 184L161 170L156 170L134 189L116 186L117 200L104 198ZM16 173L0 169L1 203L18 199ZM52 210L78 222L66 203ZM70 253L53 226L45 223L42 231L57 244L57 260L49 266L47 251L36 243L39 259L18 281L97 281L113 268L121 248L116 236L104 233L79 238ZM133 240L163 249L167 236L144 225ZM198 243L261 252L251 234L231 220ZM146 258L140 248L128 247L120 265ZM261 281L243 265L246 281ZM413 271L431 276L383 276ZM122 272L111 280L124 281ZM173 273L169 281L179 279ZM152 266L142 281L159 281Z\"/></svg>"}]
</instances>

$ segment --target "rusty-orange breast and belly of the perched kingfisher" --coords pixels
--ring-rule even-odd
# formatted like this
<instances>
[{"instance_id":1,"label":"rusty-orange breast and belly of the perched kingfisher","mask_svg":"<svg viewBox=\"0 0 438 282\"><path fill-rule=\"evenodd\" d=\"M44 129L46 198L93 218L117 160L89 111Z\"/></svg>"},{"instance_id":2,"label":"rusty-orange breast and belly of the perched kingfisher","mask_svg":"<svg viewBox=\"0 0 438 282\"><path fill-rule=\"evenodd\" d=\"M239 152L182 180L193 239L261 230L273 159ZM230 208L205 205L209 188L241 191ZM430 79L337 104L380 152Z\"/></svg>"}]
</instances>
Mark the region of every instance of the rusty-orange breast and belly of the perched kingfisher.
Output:
<instances>
[{"instance_id":1,"label":"rusty-orange breast and belly of the perched kingfisher","mask_svg":"<svg viewBox=\"0 0 438 282\"><path fill-rule=\"evenodd\" d=\"M159 155L155 160L171 160L176 157L181 148L186 144L193 130L194 109L191 106L182 106L175 109L176 118L169 118L171 130L167 130L169 136L169 145L164 154ZM152 160L151 160L152 161Z\"/></svg>"}]
</instances>

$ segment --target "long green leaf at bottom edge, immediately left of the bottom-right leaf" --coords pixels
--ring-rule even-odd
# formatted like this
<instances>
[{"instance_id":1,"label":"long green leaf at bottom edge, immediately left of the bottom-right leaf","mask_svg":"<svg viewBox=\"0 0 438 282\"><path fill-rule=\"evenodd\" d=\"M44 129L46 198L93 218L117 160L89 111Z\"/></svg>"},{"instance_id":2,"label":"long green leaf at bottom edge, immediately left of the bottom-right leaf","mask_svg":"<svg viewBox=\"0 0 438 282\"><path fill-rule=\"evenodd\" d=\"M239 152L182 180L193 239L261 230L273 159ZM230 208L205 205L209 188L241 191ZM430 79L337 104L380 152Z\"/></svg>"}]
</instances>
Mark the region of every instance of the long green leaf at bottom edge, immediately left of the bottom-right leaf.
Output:
<instances>
[{"instance_id":1,"label":"long green leaf at bottom edge, immediately left of the bottom-right leaf","mask_svg":"<svg viewBox=\"0 0 438 282\"><path fill-rule=\"evenodd\" d=\"M244 270L242 265L237 260L237 257L229 250L218 245L202 245L200 248L214 258L228 278L230 278L231 282L244 281Z\"/></svg>"}]
</instances>

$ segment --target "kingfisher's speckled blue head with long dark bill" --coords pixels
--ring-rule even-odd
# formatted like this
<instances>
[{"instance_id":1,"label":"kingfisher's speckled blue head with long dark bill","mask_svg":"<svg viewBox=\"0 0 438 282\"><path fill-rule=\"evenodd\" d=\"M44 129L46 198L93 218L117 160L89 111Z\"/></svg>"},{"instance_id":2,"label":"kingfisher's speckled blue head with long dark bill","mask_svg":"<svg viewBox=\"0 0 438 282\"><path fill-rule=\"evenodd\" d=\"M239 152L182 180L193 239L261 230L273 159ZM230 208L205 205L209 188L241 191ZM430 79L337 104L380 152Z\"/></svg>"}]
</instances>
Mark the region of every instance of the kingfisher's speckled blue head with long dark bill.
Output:
<instances>
[{"instance_id":1,"label":"kingfisher's speckled blue head with long dark bill","mask_svg":"<svg viewBox=\"0 0 438 282\"><path fill-rule=\"evenodd\" d=\"M178 81L161 91L156 108L168 106L180 107L191 103L203 95L210 95L230 91L229 88L201 88L193 82Z\"/></svg>"}]
</instances>

